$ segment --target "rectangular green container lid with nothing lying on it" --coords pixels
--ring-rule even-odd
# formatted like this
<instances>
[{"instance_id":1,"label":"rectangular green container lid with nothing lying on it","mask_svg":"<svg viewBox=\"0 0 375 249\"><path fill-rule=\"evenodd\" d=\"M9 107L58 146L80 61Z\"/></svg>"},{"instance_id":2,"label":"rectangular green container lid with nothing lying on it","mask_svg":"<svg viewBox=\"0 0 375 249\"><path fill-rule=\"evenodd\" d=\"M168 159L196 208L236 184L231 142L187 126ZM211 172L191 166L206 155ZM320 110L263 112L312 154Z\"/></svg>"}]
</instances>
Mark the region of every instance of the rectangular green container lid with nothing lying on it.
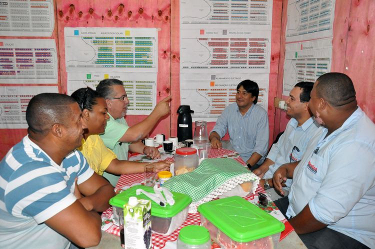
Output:
<instances>
[{"instance_id":1,"label":"rectangular green container lid with nothing lying on it","mask_svg":"<svg viewBox=\"0 0 375 249\"><path fill-rule=\"evenodd\" d=\"M237 242L252 241L285 229L282 222L239 196L203 203L198 211Z\"/></svg>"}]
</instances>

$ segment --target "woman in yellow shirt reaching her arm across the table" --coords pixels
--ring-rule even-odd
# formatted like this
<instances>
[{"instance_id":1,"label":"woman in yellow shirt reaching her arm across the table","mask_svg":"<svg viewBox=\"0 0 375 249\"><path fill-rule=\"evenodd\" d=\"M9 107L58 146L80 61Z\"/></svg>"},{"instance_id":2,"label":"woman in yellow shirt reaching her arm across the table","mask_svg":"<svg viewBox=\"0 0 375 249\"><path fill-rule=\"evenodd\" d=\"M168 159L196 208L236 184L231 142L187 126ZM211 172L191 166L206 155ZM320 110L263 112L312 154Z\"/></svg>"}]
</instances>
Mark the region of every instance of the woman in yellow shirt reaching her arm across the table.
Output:
<instances>
[{"instance_id":1,"label":"woman in yellow shirt reaching her arm across the table","mask_svg":"<svg viewBox=\"0 0 375 249\"><path fill-rule=\"evenodd\" d=\"M112 150L107 148L98 134L104 132L106 120L109 118L105 99L89 87L79 88L71 96L78 102L82 110L82 119L86 124L82 145L78 150L82 152L90 167L99 175L103 172L111 174L141 173L148 162L118 160ZM153 163L155 171L169 170L169 161Z\"/></svg>"}]
</instances>

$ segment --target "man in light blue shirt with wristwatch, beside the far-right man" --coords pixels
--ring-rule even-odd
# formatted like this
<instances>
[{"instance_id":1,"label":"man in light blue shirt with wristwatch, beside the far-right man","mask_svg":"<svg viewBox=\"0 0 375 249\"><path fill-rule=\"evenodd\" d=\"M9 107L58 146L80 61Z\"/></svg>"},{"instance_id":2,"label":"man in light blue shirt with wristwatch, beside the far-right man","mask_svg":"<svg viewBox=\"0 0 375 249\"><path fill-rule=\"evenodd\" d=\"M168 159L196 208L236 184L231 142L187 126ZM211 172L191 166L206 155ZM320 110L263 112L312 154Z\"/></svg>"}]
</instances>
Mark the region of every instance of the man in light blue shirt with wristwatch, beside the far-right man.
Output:
<instances>
[{"instance_id":1,"label":"man in light blue shirt with wristwatch, beside the far-right man","mask_svg":"<svg viewBox=\"0 0 375 249\"><path fill-rule=\"evenodd\" d=\"M310 91L313 82L298 82L289 93L286 99L286 114L290 120L286 125L284 133L279 137L269 150L266 159L253 173L259 177L260 184L272 196L272 199L279 197L272 188L272 175L274 171L284 163L299 161L306 150L307 143L319 125L314 122L311 112L308 109ZM287 193L291 179L284 182L284 193Z\"/></svg>"}]
</instances>

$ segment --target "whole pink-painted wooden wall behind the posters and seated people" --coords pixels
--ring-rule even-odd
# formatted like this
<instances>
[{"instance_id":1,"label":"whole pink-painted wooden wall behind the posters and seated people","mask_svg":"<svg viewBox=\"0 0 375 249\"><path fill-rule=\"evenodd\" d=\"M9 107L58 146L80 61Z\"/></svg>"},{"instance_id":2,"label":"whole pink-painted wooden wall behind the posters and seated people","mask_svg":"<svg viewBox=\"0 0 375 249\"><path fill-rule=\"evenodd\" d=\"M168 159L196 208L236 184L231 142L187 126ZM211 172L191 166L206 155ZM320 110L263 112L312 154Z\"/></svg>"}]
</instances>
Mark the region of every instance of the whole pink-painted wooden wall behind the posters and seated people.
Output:
<instances>
[{"instance_id":1,"label":"whole pink-painted wooden wall behind the posters and seated people","mask_svg":"<svg viewBox=\"0 0 375 249\"><path fill-rule=\"evenodd\" d=\"M285 112L273 107L273 98L283 97L282 76L285 52L287 0L273 0L271 61L268 93L270 141L284 130ZM55 0L55 27L50 38L56 40L59 56L58 86L66 92L63 28L87 27L156 27L158 28L157 101L171 94L171 114L156 125L150 135L163 132L176 135L176 110L179 101L179 0ZM347 73L354 81L357 100L367 115L375 120L375 66L373 22L375 1L336 0L333 23L331 71ZM28 38L5 37L0 38ZM39 37L34 37L39 38ZM130 125L144 115L126 117ZM214 122L210 122L208 130ZM0 129L0 158L26 134L26 129ZM272 136L273 134L273 136Z\"/></svg>"}]
</instances>

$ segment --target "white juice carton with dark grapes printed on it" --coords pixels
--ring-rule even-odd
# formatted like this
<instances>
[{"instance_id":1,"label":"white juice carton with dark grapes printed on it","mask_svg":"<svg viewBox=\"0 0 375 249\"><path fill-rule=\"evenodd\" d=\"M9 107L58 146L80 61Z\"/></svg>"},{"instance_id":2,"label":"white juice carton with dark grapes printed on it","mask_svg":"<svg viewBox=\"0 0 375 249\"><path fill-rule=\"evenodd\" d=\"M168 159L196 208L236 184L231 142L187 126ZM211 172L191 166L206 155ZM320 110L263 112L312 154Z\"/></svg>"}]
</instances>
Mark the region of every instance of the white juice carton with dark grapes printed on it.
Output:
<instances>
[{"instance_id":1,"label":"white juice carton with dark grapes printed on it","mask_svg":"<svg viewBox=\"0 0 375 249\"><path fill-rule=\"evenodd\" d=\"M132 196L123 205L124 242L127 249L151 247L151 201Z\"/></svg>"}]
</instances>

